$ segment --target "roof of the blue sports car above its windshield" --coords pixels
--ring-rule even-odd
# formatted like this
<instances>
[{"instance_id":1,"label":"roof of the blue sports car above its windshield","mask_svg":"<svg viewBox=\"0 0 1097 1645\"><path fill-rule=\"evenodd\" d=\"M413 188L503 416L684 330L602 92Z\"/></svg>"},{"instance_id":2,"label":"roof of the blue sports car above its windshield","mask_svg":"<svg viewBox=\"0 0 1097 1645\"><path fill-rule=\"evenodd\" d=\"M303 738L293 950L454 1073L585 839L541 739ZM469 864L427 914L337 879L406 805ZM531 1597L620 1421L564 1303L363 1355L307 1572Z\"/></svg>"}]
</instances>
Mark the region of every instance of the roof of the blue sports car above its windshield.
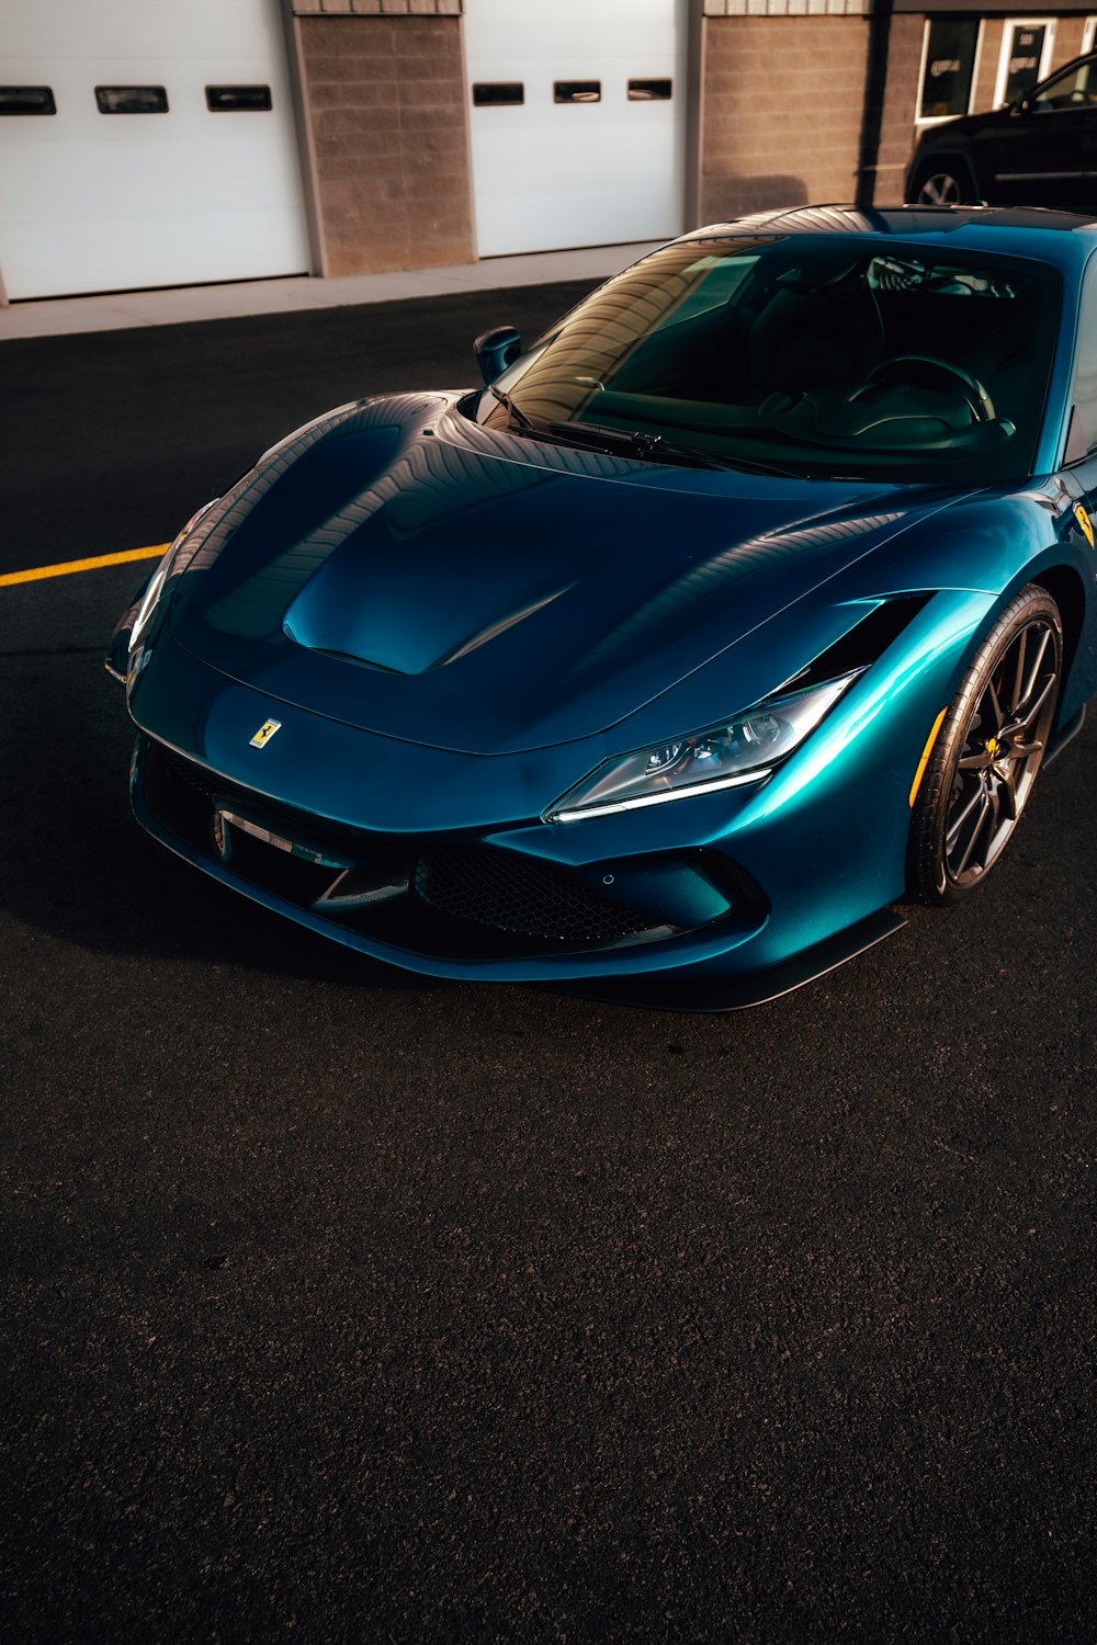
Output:
<instances>
[{"instance_id":1,"label":"roof of the blue sports car above its windshield","mask_svg":"<svg viewBox=\"0 0 1097 1645\"><path fill-rule=\"evenodd\" d=\"M941 250L1035 257L1074 276L1097 250L1095 219L1035 206L799 206L694 229L681 243L752 234L895 237Z\"/></svg>"}]
</instances>

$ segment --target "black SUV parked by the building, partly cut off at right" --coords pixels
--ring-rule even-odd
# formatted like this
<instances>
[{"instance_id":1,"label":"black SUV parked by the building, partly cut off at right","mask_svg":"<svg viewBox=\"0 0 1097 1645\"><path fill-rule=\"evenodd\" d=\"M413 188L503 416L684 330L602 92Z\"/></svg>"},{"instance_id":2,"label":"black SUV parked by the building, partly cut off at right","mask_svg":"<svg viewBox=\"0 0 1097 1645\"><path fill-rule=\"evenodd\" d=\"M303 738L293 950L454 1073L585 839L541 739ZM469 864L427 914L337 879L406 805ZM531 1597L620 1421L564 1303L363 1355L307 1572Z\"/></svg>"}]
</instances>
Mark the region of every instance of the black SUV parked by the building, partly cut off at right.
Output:
<instances>
[{"instance_id":1,"label":"black SUV parked by the building, partly cut off at right","mask_svg":"<svg viewBox=\"0 0 1097 1645\"><path fill-rule=\"evenodd\" d=\"M1005 109L923 132L906 173L918 206L1054 206L1097 212L1097 51Z\"/></svg>"}]
</instances>

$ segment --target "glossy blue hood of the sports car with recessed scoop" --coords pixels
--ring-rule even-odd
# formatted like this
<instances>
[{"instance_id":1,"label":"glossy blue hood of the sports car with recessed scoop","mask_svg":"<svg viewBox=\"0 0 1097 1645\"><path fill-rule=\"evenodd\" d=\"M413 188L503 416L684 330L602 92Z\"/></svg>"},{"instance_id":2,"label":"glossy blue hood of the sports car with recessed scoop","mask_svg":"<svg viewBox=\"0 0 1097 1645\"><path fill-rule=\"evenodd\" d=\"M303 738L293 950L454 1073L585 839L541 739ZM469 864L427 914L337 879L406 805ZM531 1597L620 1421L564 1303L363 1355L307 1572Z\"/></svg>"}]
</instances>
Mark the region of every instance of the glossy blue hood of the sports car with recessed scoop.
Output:
<instances>
[{"instance_id":1,"label":"glossy blue hood of the sports car with recessed scoop","mask_svg":"<svg viewBox=\"0 0 1097 1645\"><path fill-rule=\"evenodd\" d=\"M452 398L365 401L211 510L171 633L312 712L511 753L609 729L939 507L548 446Z\"/></svg>"}]
</instances>

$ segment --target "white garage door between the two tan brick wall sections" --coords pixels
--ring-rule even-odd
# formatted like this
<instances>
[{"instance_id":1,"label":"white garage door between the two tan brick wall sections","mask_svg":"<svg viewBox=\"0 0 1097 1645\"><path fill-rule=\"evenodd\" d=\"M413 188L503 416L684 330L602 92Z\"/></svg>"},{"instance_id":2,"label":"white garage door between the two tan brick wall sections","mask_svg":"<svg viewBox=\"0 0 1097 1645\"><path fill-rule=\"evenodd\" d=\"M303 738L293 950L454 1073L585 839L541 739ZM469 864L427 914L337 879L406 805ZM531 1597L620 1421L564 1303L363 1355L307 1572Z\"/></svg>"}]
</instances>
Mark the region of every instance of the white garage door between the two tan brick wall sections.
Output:
<instances>
[{"instance_id":1,"label":"white garage door between the two tan brick wall sections","mask_svg":"<svg viewBox=\"0 0 1097 1645\"><path fill-rule=\"evenodd\" d=\"M681 234L684 0L465 0L480 257Z\"/></svg>"}]
</instances>

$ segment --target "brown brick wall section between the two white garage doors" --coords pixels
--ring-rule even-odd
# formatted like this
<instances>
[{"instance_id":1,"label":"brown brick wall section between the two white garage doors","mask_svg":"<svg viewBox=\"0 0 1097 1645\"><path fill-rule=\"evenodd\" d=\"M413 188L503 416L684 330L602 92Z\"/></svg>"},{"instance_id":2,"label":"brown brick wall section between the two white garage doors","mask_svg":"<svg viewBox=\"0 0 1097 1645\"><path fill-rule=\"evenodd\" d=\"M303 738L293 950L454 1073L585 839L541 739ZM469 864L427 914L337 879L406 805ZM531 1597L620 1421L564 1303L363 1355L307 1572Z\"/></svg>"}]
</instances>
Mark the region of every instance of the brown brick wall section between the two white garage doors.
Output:
<instances>
[{"instance_id":1,"label":"brown brick wall section between the two white garage doors","mask_svg":"<svg viewBox=\"0 0 1097 1645\"><path fill-rule=\"evenodd\" d=\"M299 15L296 26L322 271L472 262L461 18Z\"/></svg>"}]
</instances>

